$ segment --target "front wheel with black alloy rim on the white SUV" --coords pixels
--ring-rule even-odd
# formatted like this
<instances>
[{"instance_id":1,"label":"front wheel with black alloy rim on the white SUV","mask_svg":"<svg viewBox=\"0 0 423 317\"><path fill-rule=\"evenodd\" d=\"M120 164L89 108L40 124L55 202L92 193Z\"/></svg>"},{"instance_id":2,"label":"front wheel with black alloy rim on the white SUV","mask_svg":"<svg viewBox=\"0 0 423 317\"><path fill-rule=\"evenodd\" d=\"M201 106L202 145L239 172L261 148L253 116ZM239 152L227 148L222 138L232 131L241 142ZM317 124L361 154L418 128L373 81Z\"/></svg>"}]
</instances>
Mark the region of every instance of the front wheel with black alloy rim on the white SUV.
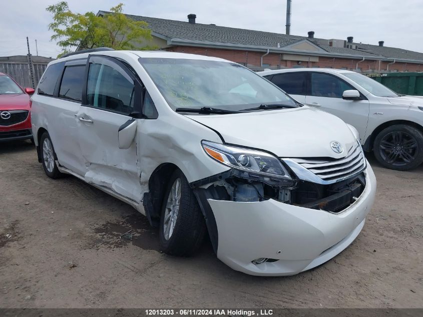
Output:
<instances>
[{"instance_id":1,"label":"front wheel with black alloy rim on the white SUV","mask_svg":"<svg viewBox=\"0 0 423 317\"><path fill-rule=\"evenodd\" d=\"M379 132L373 153L384 167L406 171L423 162L423 134L414 127L397 124Z\"/></svg>"}]
</instances>

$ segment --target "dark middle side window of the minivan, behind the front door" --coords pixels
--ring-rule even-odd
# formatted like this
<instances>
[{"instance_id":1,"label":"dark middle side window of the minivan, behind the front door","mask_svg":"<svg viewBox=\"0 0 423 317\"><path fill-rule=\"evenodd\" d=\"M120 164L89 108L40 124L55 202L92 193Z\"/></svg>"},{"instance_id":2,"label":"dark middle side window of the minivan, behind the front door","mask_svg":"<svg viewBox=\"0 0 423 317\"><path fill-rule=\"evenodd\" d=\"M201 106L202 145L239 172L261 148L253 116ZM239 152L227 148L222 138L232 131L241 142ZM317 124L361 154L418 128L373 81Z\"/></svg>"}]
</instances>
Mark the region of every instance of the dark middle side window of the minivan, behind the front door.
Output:
<instances>
[{"instance_id":1,"label":"dark middle side window of the minivan, behind the front door","mask_svg":"<svg viewBox=\"0 0 423 317\"><path fill-rule=\"evenodd\" d=\"M63 72L59 97L72 101L82 101L85 65L67 66Z\"/></svg>"}]
</instances>

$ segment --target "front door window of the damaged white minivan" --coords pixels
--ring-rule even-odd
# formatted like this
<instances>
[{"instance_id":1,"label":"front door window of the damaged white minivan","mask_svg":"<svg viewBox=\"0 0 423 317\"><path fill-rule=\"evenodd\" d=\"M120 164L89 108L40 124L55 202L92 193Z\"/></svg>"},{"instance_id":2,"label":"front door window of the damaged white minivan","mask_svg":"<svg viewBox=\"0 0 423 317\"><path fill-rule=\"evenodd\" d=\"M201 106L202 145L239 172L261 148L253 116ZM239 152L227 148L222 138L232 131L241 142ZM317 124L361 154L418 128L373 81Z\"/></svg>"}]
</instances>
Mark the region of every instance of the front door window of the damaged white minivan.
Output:
<instances>
[{"instance_id":1,"label":"front door window of the damaged white minivan","mask_svg":"<svg viewBox=\"0 0 423 317\"><path fill-rule=\"evenodd\" d=\"M88 105L129 114L134 109L134 81L120 67L90 64L88 73Z\"/></svg>"}]
</instances>

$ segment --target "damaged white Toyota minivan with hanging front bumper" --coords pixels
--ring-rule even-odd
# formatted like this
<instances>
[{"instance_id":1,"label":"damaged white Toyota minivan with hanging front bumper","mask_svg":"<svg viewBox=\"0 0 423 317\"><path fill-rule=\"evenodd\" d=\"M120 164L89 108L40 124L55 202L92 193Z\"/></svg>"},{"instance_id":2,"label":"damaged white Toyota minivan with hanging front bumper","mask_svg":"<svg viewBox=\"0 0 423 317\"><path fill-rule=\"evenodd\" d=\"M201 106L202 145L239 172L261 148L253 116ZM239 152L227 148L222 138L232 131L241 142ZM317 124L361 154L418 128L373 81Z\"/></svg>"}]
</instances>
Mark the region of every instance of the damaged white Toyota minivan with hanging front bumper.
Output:
<instances>
[{"instance_id":1,"label":"damaged white Toyota minivan with hanging front bumper","mask_svg":"<svg viewBox=\"0 0 423 317\"><path fill-rule=\"evenodd\" d=\"M373 204L356 129L226 60L72 53L49 64L31 114L46 174L132 205L169 254L208 232L233 269L292 275L345 249Z\"/></svg>"}]
</instances>

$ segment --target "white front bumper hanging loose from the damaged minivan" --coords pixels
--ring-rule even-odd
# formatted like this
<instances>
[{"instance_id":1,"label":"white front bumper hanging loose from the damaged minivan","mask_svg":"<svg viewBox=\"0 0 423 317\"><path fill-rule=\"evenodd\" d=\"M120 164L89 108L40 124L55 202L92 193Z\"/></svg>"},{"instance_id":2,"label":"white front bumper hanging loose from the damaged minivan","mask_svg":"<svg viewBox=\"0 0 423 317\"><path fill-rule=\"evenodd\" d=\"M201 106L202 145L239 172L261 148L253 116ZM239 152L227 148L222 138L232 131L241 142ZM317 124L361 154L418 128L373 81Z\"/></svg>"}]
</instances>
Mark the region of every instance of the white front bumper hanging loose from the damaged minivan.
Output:
<instances>
[{"instance_id":1,"label":"white front bumper hanging loose from the damaged minivan","mask_svg":"<svg viewBox=\"0 0 423 317\"><path fill-rule=\"evenodd\" d=\"M376 179L369 165L361 196L339 214L284 204L209 199L218 230L217 257L251 275L293 275L344 250L360 233L373 205ZM273 262L253 264L257 258Z\"/></svg>"}]
</instances>

